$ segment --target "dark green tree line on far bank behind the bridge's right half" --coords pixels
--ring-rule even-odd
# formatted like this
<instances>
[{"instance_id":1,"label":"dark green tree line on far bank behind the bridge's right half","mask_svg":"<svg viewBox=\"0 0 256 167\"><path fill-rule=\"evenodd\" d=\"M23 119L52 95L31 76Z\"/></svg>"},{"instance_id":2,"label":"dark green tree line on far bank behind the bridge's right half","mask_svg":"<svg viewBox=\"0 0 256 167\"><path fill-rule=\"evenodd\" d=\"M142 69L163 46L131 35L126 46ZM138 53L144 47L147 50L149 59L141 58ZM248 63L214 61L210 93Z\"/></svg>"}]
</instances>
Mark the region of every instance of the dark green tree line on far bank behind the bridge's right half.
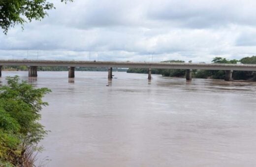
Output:
<instances>
[{"instance_id":1,"label":"dark green tree line on far bank behind the bridge's right half","mask_svg":"<svg viewBox=\"0 0 256 167\"><path fill-rule=\"evenodd\" d=\"M185 62L182 60L169 60L162 62L176 62L181 63ZM223 57L215 57L212 60L212 63L225 63L225 64L256 64L256 56L252 57L244 57L240 60L228 60ZM129 68L127 70L128 73L148 73L148 69L143 68ZM152 74L160 74L166 77L185 77L186 70L184 69L152 69ZM192 71L193 78L212 78L212 79L221 79L223 80L225 77L224 70L193 70ZM234 80L256 80L256 76L253 71L233 71L233 79Z\"/></svg>"}]
</instances>

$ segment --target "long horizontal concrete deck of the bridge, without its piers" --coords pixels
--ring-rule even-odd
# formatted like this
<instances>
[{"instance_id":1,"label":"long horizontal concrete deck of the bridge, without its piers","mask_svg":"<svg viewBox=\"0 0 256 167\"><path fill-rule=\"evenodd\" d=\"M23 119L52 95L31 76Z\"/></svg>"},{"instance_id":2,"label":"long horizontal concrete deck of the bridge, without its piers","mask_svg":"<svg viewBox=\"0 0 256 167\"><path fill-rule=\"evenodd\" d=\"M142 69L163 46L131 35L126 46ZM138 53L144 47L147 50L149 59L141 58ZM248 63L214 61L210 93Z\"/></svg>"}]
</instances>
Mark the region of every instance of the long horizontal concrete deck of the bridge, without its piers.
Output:
<instances>
[{"instance_id":1,"label":"long horizontal concrete deck of the bridge, without its piers","mask_svg":"<svg viewBox=\"0 0 256 167\"><path fill-rule=\"evenodd\" d=\"M166 63L121 61L0 60L0 66L117 67L256 71L256 64Z\"/></svg>"}]
</instances>

